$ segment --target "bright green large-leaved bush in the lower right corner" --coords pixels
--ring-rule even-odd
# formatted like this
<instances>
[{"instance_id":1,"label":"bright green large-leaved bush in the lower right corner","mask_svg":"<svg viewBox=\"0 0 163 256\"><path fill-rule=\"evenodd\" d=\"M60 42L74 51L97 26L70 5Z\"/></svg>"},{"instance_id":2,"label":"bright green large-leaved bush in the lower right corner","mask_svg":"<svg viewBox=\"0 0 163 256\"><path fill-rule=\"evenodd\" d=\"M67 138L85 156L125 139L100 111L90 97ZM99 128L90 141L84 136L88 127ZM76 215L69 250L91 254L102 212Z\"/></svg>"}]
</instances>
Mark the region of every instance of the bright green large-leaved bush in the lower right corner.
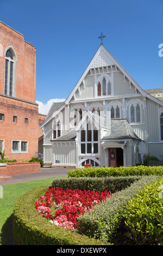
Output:
<instances>
[{"instance_id":1,"label":"bright green large-leaved bush in the lower right corner","mask_svg":"<svg viewBox=\"0 0 163 256\"><path fill-rule=\"evenodd\" d=\"M163 179L146 186L128 202L124 214L125 223L137 244L162 243L163 238Z\"/></svg>"}]
</instances>

